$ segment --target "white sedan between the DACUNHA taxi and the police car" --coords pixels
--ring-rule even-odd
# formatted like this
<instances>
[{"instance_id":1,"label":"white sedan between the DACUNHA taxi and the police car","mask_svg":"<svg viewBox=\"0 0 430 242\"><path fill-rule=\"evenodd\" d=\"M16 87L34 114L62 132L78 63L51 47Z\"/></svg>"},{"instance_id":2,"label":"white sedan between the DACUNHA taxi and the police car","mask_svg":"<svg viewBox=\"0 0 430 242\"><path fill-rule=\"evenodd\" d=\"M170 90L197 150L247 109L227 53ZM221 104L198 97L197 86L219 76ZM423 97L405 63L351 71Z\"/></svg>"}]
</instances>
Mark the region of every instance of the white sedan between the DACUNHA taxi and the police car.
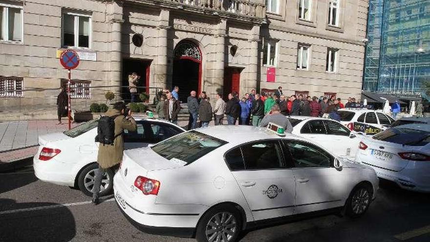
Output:
<instances>
[{"instance_id":1,"label":"white sedan between the DACUNHA taxi and the police car","mask_svg":"<svg viewBox=\"0 0 430 242\"><path fill-rule=\"evenodd\" d=\"M363 134L350 131L338 121L305 116L288 118L293 126L293 134L307 138L338 155L355 158L358 144Z\"/></svg>"}]
</instances>

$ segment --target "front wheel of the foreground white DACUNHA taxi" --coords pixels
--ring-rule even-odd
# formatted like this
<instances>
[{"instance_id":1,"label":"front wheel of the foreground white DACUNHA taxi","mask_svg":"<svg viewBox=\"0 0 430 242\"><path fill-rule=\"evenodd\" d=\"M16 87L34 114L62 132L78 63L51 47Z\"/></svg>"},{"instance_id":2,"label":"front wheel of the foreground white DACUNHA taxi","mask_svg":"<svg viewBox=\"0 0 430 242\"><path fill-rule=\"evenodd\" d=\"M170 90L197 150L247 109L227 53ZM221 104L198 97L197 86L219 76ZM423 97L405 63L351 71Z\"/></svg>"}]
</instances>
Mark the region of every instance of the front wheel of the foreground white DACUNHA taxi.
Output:
<instances>
[{"instance_id":1,"label":"front wheel of the foreground white DACUNHA taxi","mask_svg":"<svg viewBox=\"0 0 430 242\"><path fill-rule=\"evenodd\" d=\"M346 200L345 213L350 218L358 218L364 215L372 201L373 191L368 184L356 186Z\"/></svg>"}]
</instances>

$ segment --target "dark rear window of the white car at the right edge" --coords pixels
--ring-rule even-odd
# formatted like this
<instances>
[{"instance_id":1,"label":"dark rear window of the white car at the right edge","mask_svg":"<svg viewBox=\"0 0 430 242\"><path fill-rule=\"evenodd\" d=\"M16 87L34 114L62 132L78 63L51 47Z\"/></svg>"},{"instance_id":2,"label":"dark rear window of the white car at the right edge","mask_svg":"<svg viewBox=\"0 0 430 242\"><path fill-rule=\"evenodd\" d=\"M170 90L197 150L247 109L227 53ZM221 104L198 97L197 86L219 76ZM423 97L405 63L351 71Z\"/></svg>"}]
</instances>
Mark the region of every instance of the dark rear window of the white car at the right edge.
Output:
<instances>
[{"instance_id":1,"label":"dark rear window of the white car at the right edge","mask_svg":"<svg viewBox=\"0 0 430 242\"><path fill-rule=\"evenodd\" d=\"M425 146L430 142L430 132L422 130L390 128L373 135L373 139L401 145Z\"/></svg>"}]
</instances>

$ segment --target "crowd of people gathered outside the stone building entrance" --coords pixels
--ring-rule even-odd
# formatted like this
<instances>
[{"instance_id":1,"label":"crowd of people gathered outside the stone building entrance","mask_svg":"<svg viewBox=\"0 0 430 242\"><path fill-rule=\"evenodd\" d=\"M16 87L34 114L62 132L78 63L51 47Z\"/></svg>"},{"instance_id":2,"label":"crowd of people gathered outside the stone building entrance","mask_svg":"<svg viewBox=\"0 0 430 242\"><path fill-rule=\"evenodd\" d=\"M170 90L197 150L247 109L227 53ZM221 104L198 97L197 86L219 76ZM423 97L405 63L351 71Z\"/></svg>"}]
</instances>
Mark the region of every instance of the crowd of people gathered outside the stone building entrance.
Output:
<instances>
[{"instance_id":1,"label":"crowd of people gathered outside the stone building entrance","mask_svg":"<svg viewBox=\"0 0 430 242\"><path fill-rule=\"evenodd\" d=\"M177 124L177 115L181 109L178 99L178 87L172 91L165 91L158 103L156 111L159 118L166 119ZM210 98L206 92L197 96L196 91L191 91L187 98L189 116L188 129L207 127L209 122L215 120L215 125L222 125L224 115L227 117L227 124L265 126L264 118L274 113L287 116L312 116L324 117L340 120L337 110L342 108L363 108L363 102L353 97L348 98L343 103L336 95L327 97L303 96L283 94L282 87L273 93L256 93L253 89L239 98L237 92L228 94L228 101L223 100L221 93L215 94L215 107L212 108ZM275 116L279 116L275 115ZM282 123L280 121L280 123ZM282 123L284 124L284 123ZM288 128L288 127L285 127Z\"/></svg>"}]
</instances>

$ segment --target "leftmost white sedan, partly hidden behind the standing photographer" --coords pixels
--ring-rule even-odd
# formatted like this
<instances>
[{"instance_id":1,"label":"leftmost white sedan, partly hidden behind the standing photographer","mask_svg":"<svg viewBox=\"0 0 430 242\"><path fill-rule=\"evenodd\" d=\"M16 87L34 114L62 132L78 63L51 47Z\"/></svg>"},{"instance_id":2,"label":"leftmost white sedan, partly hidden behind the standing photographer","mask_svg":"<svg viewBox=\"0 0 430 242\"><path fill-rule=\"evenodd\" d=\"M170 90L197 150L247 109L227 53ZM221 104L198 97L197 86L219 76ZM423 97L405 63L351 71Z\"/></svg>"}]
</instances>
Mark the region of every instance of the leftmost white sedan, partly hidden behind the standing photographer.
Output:
<instances>
[{"instance_id":1,"label":"leftmost white sedan, partly hidden behind the standing photographer","mask_svg":"<svg viewBox=\"0 0 430 242\"><path fill-rule=\"evenodd\" d=\"M146 147L158 143L181 132L179 126L162 120L136 117L137 131L124 131L125 149ZM94 172L98 168L97 135L98 120L88 121L69 131L48 133L39 136L39 151L33 158L36 176L43 181L79 188L87 196L92 196ZM105 173L101 185L101 195L112 191L115 171Z\"/></svg>"}]
</instances>

